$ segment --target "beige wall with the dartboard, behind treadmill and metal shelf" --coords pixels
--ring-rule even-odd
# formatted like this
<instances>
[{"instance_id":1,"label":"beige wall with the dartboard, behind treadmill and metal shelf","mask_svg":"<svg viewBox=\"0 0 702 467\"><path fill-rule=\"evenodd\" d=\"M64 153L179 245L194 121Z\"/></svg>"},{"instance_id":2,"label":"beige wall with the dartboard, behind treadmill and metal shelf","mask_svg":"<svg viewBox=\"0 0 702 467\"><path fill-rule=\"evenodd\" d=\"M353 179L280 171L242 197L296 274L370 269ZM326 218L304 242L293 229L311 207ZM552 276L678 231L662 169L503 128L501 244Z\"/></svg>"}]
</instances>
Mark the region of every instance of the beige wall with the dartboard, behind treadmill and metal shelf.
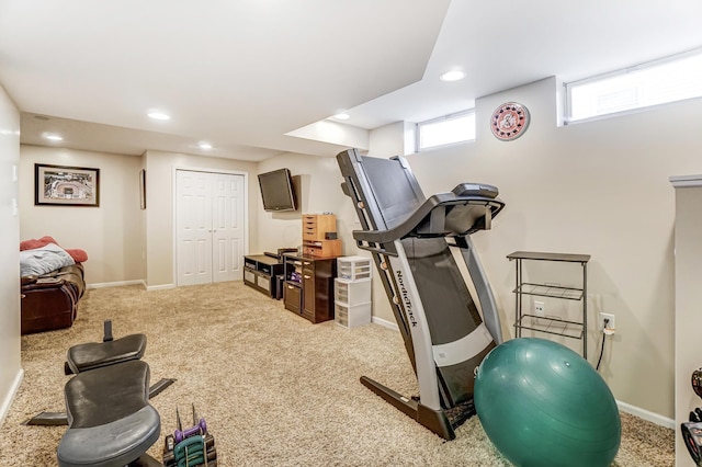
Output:
<instances>
[{"instance_id":1,"label":"beige wall with the dartboard, behind treadmill and metal shelf","mask_svg":"<svg viewBox=\"0 0 702 467\"><path fill-rule=\"evenodd\" d=\"M526 105L532 123L521 138L502 143L489 133L489 118L508 101ZM426 194L462 181L499 187L507 207L474 241L508 335L514 271L507 254L591 254L589 361L597 362L601 342L596 316L614 314L616 334L600 374L618 400L672 419L675 196L668 178L702 169L702 101L565 127L556 126L555 102L554 79L486 96L476 104L476 141L408 160Z\"/></svg>"}]
</instances>

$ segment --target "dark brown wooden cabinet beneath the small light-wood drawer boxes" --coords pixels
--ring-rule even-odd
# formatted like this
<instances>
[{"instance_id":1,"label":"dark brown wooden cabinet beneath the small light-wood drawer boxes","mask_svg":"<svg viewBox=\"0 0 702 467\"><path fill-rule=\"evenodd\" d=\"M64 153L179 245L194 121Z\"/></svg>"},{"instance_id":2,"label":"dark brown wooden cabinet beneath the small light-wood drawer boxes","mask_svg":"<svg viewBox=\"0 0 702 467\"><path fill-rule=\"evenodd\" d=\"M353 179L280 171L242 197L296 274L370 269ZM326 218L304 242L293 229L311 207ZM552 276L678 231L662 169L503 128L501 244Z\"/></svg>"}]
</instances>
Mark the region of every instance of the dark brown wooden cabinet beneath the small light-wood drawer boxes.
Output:
<instances>
[{"instance_id":1,"label":"dark brown wooden cabinet beneath the small light-wood drawer boxes","mask_svg":"<svg viewBox=\"0 0 702 467\"><path fill-rule=\"evenodd\" d=\"M336 258L286 253L283 259L285 309L315 323L333 319Z\"/></svg>"}]
</instances>

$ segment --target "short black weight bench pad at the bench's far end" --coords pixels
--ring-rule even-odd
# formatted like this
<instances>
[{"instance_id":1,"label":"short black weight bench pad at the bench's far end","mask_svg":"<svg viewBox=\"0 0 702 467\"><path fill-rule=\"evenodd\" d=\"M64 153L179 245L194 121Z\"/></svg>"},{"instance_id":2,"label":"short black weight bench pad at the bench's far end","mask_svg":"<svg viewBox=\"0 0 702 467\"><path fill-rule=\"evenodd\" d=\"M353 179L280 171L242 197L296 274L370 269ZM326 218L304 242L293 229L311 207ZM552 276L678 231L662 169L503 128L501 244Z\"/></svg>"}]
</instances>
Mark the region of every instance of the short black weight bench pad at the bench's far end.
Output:
<instances>
[{"instance_id":1,"label":"short black weight bench pad at the bench's far end","mask_svg":"<svg viewBox=\"0 0 702 467\"><path fill-rule=\"evenodd\" d=\"M73 345L68 350L66 361L69 368L78 374L120 362L139 360L145 351L146 335L131 334L114 341Z\"/></svg>"}]
</instances>

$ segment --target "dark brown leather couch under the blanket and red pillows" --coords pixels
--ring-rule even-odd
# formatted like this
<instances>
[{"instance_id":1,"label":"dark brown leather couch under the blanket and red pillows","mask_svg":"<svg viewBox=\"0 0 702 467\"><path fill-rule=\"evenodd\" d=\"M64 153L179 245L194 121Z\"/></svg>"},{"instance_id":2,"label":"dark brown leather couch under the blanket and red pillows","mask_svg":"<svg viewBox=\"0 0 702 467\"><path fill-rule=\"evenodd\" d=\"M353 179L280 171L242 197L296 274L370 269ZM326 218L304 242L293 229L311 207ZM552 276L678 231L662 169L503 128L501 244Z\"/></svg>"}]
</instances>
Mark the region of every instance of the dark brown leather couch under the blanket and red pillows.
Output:
<instances>
[{"instance_id":1,"label":"dark brown leather couch under the blanket and red pillows","mask_svg":"<svg viewBox=\"0 0 702 467\"><path fill-rule=\"evenodd\" d=\"M22 281L22 334L70 328L86 292L83 266L76 263Z\"/></svg>"}]
</instances>

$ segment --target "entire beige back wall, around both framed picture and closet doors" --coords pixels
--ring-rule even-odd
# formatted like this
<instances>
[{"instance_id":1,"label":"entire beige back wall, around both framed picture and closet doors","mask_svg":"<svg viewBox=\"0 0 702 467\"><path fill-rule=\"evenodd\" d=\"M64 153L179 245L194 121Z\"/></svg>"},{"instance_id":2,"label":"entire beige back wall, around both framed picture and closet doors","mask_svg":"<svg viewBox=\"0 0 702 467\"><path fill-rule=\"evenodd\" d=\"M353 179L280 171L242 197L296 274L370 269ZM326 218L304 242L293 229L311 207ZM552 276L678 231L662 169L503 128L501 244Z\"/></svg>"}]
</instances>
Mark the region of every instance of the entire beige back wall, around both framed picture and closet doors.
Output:
<instances>
[{"instance_id":1,"label":"entire beige back wall, around both framed picture and closet doors","mask_svg":"<svg viewBox=\"0 0 702 467\"><path fill-rule=\"evenodd\" d=\"M99 168L100 207L35 206L35 163ZM20 158L21 238L49 235L66 248L86 250L89 285L145 282L149 287L170 287L176 168L251 173L256 167L252 162L158 151L132 157L24 145ZM146 210L139 206L143 168L147 174ZM249 183L249 198L256 193ZM249 213L253 243L256 218L256 213Z\"/></svg>"}]
</instances>

